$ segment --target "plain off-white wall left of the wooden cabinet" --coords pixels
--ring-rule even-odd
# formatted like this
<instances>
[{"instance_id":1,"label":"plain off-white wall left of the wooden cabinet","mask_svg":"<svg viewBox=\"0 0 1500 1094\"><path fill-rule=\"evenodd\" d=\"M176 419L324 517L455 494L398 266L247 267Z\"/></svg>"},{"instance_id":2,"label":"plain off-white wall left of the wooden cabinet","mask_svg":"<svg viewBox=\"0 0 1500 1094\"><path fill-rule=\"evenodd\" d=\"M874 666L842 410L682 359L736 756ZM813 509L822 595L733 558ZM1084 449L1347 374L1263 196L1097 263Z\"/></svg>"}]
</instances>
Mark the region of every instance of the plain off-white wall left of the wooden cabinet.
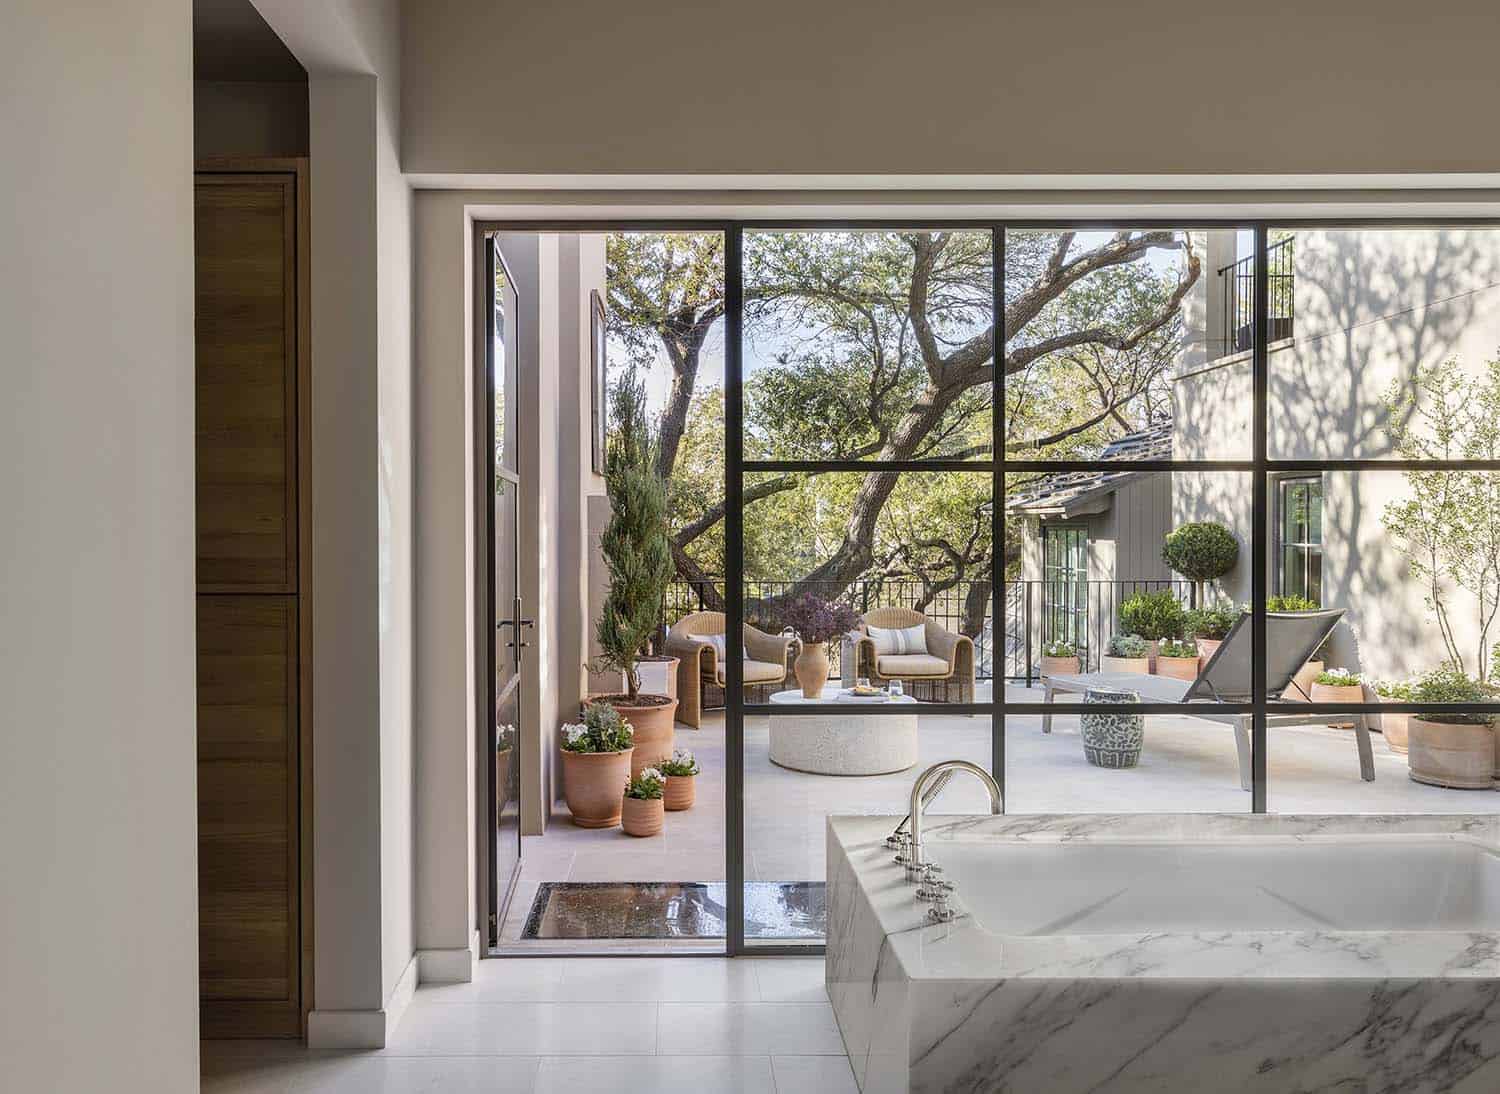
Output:
<instances>
[{"instance_id":1,"label":"plain off-white wall left of the wooden cabinet","mask_svg":"<svg viewBox=\"0 0 1500 1094\"><path fill-rule=\"evenodd\" d=\"M3 1085L195 1091L192 11L3 23Z\"/></svg>"}]
</instances>

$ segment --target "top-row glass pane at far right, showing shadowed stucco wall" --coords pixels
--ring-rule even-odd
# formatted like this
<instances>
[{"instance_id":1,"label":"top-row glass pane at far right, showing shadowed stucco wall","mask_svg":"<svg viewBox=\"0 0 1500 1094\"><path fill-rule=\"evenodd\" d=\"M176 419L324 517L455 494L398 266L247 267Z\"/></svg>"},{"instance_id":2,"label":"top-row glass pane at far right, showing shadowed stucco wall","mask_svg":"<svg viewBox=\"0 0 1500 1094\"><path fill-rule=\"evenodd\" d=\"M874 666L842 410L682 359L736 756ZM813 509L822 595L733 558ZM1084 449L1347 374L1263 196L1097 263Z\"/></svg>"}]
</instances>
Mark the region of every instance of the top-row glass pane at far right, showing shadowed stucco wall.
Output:
<instances>
[{"instance_id":1,"label":"top-row glass pane at far right, showing shadowed stucco wall","mask_svg":"<svg viewBox=\"0 0 1500 1094\"><path fill-rule=\"evenodd\" d=\"M1401 426L1440 405L1437 372L1484 375L1500 357L1500 230L1274 230L1269 260L1269 455L1443 455Z\"/></svg>"}]
</instances>

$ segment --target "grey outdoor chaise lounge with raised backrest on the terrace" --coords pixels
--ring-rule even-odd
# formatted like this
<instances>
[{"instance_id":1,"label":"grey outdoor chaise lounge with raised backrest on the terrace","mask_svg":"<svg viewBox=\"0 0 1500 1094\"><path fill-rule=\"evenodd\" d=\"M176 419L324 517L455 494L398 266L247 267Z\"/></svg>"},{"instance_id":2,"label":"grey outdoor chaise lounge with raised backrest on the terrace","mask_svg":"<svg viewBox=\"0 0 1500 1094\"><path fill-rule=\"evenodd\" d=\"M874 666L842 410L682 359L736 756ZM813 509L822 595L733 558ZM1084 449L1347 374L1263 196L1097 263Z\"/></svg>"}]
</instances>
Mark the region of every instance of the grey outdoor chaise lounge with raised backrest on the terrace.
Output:
<instances>
[{"instance_id":1,"label":"grey outdoor chaise lounge with raised backrest on the terrace","mask_svg":"<svg viewBox=\"0 0 1500 1094\"><path fill-rule=\"evenodd\" d=\"M1281 693L1292 686L1298 669L1334 630L1344 609L1318 612L1266 612L1266 695L1280 701ZM1250 666L1250 615L1240 615L1230 627L1224 642L1209 657L1197 680L1173 680L1138 672L1078 672L1041 678L1046 702L1054 695L1077 693L1090 687L1128 689L1137 692L1142 702L1250 702L1252 695ZM1366 689L1366 699L1370 693ZM1208 722L1222 722L1234 729L1234 747L1239 752L1239 785L1251 788L1250 774L1250 714L1221 714L1214 711L1184 711ZM1326 725L1330 714L1268 714L1268 725ZM1365 782L1376 779L1376 758L1370 744L1370 716L1347 714L1354 720L1354 743L1359 747L1359 774ZM1042 732L1052 732L1052 714L1041 716Z\"/></svg>"}]
</instances>

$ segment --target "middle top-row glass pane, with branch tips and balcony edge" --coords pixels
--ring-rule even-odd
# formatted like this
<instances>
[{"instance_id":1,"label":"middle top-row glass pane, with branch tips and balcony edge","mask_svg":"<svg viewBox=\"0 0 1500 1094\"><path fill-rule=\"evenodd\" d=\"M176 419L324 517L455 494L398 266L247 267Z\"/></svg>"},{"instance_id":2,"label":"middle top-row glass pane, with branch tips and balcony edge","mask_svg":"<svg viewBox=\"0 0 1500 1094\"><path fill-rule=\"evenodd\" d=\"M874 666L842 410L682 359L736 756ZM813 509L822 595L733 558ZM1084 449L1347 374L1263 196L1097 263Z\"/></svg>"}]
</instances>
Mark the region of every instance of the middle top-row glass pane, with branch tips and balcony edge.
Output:
<instances>
[{"instance_id":1,"label":"middle top-row glass pane, with branch tips and balcony edge","mask_svg":"<svg viewBox=\"0 0 1500 1094\"><path fill-rule=\"evenodd\" d=\"M1011 459L1248 458L1234 230L1005 239Z\"/></svg>"}]
</instances>

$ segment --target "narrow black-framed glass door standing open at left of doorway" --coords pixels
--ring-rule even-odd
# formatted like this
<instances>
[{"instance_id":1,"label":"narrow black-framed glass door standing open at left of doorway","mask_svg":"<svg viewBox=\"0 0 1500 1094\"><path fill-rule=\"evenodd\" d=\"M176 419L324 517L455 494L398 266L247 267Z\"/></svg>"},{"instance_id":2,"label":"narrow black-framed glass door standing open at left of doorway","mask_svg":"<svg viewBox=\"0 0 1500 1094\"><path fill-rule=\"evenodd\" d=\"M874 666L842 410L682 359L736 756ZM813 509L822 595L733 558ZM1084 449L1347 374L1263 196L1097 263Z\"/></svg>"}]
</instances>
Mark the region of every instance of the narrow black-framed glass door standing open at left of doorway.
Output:
<instances>
[{"instance_id":1,"label":"narrow black-framed glass door standing open at left of doorway","mask_svg":"<svg viewBox=\"0 0 1500 1094\"><path fill-rule=\"evenodd\" d=\"M486 812L489 842L489 944L494 945L498 924L504 921L506 905L520 867L520 659L530 645L532 621L524 617L519 585L518 519L520 513L520 476L518 465L519 437L516 432L516 321L520 314L514 281L506 267L500 245L484 240L486 311L484 386L486 398L478 402L480 437L489 438L480 459L484 474L478 476L486 503L478 512L488 528L480 530L486 545L482 570L488 588L480 603L488 605L480 633L488 635L488 651L482 654L489 687L482 687L484 720L489 725L488 755L494 762L482 768L489 780ZM484 677L482 677L483 680Z\"/></svg>"}]
</instances>

